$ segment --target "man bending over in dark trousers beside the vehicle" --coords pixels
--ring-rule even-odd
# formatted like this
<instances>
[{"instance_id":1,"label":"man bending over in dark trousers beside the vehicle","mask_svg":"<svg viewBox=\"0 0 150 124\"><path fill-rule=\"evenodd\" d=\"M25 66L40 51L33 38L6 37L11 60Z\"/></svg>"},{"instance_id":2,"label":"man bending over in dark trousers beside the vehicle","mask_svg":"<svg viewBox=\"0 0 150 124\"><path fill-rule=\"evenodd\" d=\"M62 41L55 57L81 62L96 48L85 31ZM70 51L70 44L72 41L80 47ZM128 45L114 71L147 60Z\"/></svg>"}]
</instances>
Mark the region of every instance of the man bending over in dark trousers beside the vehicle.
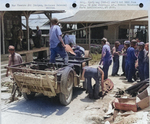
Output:
<instances>
[{"instance_id":1,"label":"man bending over in dark trousers beside the vehicle","mask_svg":"<svg viewBox=\"0 0 150 124\"><path fill-rule=\"evenodd\" d=\"M104 81L104 72L100 67L93 68L85 66L85 62L82 64L83 72L82 72L82 79L87 80L87 91L89 93L90 99L99 99L99 87L101 84L101 89L103 91L103 81ZM94 88L92 88L92 78L95 80ZM101 80L100 80L101 79Z\"/></svg>"}]
</instances>

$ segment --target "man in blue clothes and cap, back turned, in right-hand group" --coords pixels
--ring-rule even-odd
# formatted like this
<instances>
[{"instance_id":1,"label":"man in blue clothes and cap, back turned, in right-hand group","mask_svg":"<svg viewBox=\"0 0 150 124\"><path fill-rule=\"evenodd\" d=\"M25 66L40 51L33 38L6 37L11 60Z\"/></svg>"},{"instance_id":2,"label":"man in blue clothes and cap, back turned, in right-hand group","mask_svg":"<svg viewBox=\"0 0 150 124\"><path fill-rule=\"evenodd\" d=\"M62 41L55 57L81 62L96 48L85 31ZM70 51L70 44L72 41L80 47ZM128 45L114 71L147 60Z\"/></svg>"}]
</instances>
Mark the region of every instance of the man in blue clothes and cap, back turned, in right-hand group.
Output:
<instances>
[{"instance_id":1,"label":"man in blue clothes and cap, back turned, in right-hand group","mask_svg":"<svg viewBox=\"0 0 150 124\"><path fill-rule=\"evenodd\" d=\"M135 74L135 61L137 60L137 57L135 55L136 47L137 41L133 39L131 41L131 46L127 50L127 58L125 65L126 78L128 82L133 82L132 77Z\"/></svg>"}]
</instances>

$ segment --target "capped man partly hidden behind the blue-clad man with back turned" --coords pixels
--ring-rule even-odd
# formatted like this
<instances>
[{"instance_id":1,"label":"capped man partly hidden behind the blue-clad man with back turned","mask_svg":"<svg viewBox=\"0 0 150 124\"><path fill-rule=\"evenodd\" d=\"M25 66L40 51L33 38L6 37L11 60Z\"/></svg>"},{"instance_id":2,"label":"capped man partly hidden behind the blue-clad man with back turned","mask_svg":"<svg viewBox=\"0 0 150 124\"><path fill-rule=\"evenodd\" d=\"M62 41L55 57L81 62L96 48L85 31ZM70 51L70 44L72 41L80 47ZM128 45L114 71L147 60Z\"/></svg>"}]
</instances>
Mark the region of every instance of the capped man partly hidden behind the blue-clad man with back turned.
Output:
<instances>
[{"instance_id":1,"label":"capped man partly hidden behind the blue-clad man with back turned","mask_svg":"<svg viewBox=\"0 0 150 124\"><path fill-rule=\"evenodd\" d=\"M125 76L125 63L126 63L126 57L127 57L127 49L130 46L130 41L126 40L124 41L124 47L122 48L122 71L123 74L121 76Z\"/></svg>"}]
</instances>

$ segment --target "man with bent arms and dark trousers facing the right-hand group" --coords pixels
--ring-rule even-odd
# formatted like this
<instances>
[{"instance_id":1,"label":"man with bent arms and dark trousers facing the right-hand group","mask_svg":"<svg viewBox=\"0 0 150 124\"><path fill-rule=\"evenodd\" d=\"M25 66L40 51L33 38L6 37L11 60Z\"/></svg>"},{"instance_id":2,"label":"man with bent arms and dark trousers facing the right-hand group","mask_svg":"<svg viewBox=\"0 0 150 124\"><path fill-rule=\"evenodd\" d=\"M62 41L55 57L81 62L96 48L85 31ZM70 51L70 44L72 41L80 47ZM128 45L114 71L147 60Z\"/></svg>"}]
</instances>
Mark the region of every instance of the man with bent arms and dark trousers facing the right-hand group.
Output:
<instances>
[{"instance_id":1,"label":"man with bent arms and dark trousers facing the right-hand group","mask_svg":"<svg viewBox=\"0 0 150 124\"><path fill-rule=\"evenodd\" d=\"M115 42L115 46L113 47L112 51L113 51L113 69L112 69L112 76L119 76L118 75L118 70L119 70L119 55L121 53L121 51L119 51L119 45L120 42L116 41Z\"/></svg>"}]
</instances>

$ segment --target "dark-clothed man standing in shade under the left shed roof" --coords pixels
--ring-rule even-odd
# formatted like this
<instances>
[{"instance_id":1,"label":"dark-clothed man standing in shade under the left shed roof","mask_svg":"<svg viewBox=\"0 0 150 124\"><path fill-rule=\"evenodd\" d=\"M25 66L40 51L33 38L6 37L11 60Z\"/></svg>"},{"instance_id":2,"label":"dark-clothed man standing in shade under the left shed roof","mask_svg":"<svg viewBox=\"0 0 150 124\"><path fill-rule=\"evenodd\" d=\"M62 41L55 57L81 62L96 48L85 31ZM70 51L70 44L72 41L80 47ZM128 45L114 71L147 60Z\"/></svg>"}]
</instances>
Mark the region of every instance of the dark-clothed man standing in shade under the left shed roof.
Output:
<instances>
[{"instance_id":1,"label":"dark-clothed man standing in shade under the left shed roof","mask_svg":"<svg viewBox=\"0 0 150 124\"><path fill-rule=\"evenodd\" d=\"M37 31L36 31L36 41L35 41L35 46L37 47L37 48L41 48L41 35L42 35L42 31L39 29L39 26L36 26L36 29L37 29Z\"/></svg>"}]
</instances>

